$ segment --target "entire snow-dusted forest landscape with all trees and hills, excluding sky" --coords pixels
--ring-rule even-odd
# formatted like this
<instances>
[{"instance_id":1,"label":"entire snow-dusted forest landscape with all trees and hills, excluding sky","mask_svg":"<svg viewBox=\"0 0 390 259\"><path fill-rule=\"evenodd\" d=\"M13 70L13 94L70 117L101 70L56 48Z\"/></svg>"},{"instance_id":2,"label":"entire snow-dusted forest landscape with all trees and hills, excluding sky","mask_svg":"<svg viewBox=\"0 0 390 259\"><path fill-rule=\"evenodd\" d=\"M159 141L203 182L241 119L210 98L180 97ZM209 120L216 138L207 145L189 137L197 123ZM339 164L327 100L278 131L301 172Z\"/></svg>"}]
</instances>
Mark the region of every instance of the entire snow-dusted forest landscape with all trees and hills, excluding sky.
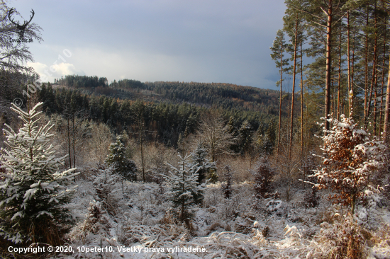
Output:
<instances>
[{"instance_id":1,"label":"entire snow-dusted forest landscape with all trees and hills, excluding sky","mask_svg":"<svg viewBox=\"0 0 390 259\"><path fill-rule=\"evenodd\" d=\"M0 257L390 258L389 4L287 0L277 92L44 83L0 1Z\"/></svg>"}]
</instances>

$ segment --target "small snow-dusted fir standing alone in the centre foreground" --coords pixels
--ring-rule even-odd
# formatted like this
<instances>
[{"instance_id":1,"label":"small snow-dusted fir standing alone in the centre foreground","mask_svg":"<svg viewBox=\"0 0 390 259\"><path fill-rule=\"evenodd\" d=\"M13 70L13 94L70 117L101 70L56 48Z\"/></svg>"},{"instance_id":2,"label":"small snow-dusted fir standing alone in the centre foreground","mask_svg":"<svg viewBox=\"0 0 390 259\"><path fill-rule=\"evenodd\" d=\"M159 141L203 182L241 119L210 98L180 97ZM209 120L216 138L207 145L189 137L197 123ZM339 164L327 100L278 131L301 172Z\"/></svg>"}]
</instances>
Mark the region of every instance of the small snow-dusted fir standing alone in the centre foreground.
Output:
<instances>
[{"instance_id":1,"label":"small snow-dusted fir standing alone in the centre foreground","mask_svg":"<svg viewBox=\"0 0 390 259\"><path fill-rule=\"evenodd\" d=\"M194 196L203 200L204 184L198 185L199 166L189 163L189 156L182 158L179 154L179 166L171 166L169 175L164 175L168 191L165 195L172 201L176 216L179 221L185 221L187 226L189 220L194 216L191 207L196 203Z\"/></svg>"}]
</instances>

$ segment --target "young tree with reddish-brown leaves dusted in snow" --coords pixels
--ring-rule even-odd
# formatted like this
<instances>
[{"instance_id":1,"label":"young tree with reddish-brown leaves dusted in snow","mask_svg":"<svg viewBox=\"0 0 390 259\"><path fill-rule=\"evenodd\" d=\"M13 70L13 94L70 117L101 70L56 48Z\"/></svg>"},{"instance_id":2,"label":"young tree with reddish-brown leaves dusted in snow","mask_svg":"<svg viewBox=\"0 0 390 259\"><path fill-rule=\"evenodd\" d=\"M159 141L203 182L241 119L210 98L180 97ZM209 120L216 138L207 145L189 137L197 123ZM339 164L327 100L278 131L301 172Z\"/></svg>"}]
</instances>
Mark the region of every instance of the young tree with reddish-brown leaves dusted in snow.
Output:
<instances>
[{"instance_id":1,"label":"young tree with reddish-brown leaves dusted in snow","mask_svg":"<svg viewBox=\"0 0 390 259\"><path fill-rule=\"evenodd\" d=\"M341 115L341 120L328 119L332 129L323 128L323 166L314 170L311 177L317 179L315 187L330 188L335 192L335 203L350 205L354 214L355 205L364 195L379 192L381 188L370 185L370 178L383 166L383 141L370 138L363 129L357 129L352 118Z\"/></svg>"}]
</instances>

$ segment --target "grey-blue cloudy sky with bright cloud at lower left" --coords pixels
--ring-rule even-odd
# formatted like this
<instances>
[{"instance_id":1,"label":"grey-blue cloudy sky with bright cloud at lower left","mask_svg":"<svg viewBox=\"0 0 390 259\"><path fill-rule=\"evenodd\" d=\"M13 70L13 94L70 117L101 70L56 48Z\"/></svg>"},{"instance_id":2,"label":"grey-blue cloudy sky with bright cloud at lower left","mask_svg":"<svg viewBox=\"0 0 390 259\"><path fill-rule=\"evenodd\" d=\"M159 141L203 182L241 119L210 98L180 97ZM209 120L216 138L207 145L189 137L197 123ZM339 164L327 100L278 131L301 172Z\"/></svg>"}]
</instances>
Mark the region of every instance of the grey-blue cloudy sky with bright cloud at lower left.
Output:
<instances>
[{"instance_id":1,"label":"grey-blue cloudy sky with bright cloud at lower left","mask_svg":"<svg viewBox=\"0 0 390 259\"><path fill-rule=\"evenodd\" d=\"M278 71L269 47L283 25L283 0L18 0L8 5L25 20L31 8L35 11L33 22L43 28L44 41L28 43L30 65L41 76L48 71L50 81L80 74L108 81L276 89Z\"/></svg>"}]
</instances>

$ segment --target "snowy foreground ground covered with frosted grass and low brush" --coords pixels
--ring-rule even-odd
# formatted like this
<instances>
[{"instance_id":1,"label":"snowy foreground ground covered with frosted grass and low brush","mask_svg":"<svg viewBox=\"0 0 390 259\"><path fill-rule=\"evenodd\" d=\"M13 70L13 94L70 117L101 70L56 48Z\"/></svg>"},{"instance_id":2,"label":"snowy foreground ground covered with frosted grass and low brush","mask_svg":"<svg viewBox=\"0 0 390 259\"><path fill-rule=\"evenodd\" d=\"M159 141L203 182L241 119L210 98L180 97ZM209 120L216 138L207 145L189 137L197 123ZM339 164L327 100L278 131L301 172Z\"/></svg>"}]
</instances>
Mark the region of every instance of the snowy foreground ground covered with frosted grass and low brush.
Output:
<instances>
[{"instance_id":1,"label":"snowy foreground ground covered with frosted grass and low brush","mask_svg":"<svg viewBox=\"0 0 390 259\"><path fill-rule=\"evenodd\" d=\"M252 209L251 183L233 185L230 200L223 198L221 184L207 185L190 229L173 223L164 190L155 183L125 182L122 191L119 182L109 206L96 201L91 180L78 185L69 207L85 216L69 234L74 253L57 258L329 258L348 227L346 209L325 199L306 209L305 192L296 192L290 202L269 198L262 209ZM368 258L390 258L389 210L373 202L358 215L369 237ZM94 251L99 248L104 252Z\"/></svg>"}]
</instances>

